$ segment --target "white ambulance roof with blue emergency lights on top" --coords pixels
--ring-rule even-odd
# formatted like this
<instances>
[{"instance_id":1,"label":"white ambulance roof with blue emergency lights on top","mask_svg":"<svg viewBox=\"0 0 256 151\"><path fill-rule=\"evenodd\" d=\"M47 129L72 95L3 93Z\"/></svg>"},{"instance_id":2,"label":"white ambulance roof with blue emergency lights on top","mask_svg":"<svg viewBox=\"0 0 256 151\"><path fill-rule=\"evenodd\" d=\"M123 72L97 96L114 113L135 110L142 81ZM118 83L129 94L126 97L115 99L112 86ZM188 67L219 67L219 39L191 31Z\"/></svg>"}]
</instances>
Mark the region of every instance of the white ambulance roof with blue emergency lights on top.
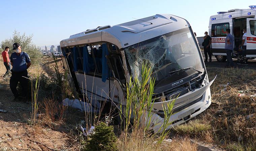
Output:
<instances>
[{"instance_id":1,"label":"white ambulance roof with blue emergency lights on top","mask_svg":"<svg viewBox=\"0 0 256 151\"><path fill-rule=\"evenodd\" d=\"M210 20L220 20L220 19L232 19L238 17L249 17L255 16L256 9L231 9L227 12L218 12L217 15L212 15Z\"/></svg>"}]
</instances>

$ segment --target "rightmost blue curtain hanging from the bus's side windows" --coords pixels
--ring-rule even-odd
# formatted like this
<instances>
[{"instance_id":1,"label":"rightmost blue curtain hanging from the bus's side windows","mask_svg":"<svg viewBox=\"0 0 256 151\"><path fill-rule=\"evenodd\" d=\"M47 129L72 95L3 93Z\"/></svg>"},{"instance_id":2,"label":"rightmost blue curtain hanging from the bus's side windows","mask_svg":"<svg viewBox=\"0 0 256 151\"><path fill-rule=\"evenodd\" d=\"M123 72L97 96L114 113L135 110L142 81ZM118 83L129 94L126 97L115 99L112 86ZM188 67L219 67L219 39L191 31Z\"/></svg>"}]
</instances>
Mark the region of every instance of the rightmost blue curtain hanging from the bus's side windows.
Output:
<instances>
[{"instance_id":1,"label":"rightmost blue curtain hanging from the bus's side windows","mask_svg":"<svg viewBox=\"0 0 256 151\"><path fill-rule=\"evenodd\" d=\"M109 69L107 65L107 58L108 55L107 51L107 44L102 44L102 82L106 82L106 80L109 78Z\"/></svg>"}]
</instances>

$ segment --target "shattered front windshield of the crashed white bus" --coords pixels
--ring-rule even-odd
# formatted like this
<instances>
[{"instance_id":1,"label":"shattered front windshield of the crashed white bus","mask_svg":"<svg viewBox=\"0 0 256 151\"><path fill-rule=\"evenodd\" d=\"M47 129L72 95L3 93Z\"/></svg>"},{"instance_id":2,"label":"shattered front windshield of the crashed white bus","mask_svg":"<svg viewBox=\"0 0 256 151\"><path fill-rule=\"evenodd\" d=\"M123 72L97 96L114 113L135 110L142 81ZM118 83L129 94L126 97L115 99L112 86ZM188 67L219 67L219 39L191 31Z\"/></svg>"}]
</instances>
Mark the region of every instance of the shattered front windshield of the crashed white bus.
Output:
<instances>
[{"instance_id":1,"label":"shattered front windshield of the crashed white bus","mask_svg":"<svg viewBox=\"0 0 256 151\"><path fill-rule=\"evenodd\" d=\"M156 81L169 77L170 72L182 68L193 67L197 70L203 68L189 28L140 42L125 48L124 51L132 76L141 76L140 71L144 61L152 66Z\"/></svg>"}]
</instances>

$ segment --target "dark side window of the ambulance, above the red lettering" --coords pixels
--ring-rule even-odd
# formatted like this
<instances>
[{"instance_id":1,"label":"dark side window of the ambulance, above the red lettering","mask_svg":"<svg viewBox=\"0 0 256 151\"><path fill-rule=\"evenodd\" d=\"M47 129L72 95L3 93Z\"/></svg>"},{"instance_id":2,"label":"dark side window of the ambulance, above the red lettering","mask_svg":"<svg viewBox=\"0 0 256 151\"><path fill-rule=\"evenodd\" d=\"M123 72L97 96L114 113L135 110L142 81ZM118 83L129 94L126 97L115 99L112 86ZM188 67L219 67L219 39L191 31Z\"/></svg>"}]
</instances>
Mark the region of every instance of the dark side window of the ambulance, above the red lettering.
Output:
<instances>
[{"instance_id":1,"label":"dark side window of the ambulance, above the red lettering","mask_svg":"<svg viewBox=\"0 0 256 151\"><path fill-rule=\"evenodd\" d=\"M212 24L212 37L226 37L226 29L229 29L229 23Z\"/></svg>"}]
</instances>

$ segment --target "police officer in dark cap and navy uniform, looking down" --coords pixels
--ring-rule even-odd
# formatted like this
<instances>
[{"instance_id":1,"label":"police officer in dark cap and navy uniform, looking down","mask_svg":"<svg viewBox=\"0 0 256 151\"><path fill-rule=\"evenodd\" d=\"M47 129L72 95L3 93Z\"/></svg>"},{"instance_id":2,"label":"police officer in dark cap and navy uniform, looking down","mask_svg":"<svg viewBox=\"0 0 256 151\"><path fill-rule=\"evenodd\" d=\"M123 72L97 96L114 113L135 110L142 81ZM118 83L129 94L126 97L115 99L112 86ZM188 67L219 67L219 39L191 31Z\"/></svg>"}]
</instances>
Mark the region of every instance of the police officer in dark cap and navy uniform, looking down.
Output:
<instances>
[{"instance_id":1,"label":"police officer in dark cap and navy uniform, looking down","mask_svg":"<svg viewBox=\"0 0 256 151\"><path fill-rule=\"evenodd\" d=\"M21 50L21 46L18 43L13 44L13 52L10 60L12 65L10 88L15 99L26 98L28 88L28 71L27 69L31 65L29 55ZM16 87L18 82L21 84L22 94L19 94Z\"/></svg>"}]
</instances>

